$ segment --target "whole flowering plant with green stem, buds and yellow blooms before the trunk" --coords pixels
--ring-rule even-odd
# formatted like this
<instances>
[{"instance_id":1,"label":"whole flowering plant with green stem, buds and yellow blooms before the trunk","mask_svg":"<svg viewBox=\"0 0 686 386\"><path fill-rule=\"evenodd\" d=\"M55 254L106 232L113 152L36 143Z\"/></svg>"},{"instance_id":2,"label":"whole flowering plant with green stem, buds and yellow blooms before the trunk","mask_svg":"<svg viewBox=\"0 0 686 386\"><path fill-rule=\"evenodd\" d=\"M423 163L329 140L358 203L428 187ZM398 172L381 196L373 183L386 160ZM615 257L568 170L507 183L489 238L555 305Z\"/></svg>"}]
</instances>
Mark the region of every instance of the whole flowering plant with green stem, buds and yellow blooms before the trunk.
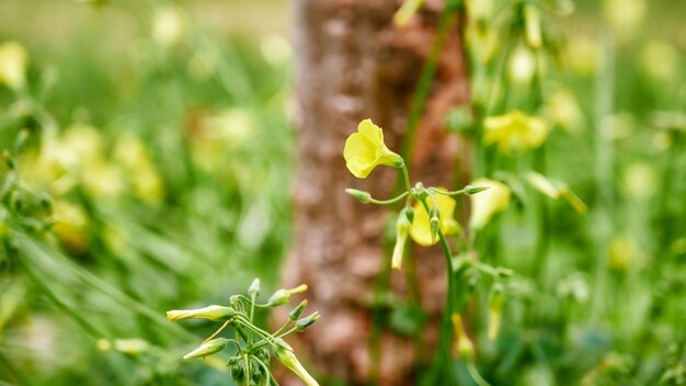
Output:
<instances>
[{"instance_id":1,"label":"whole flowering plant with green stem, buds and yellow blooms before the trunk","mask_svg":"<svg viewBox=\"0 0 686 386\"><path fill-rule=\"evenodd\" d=\"M471 235L491 216L503 211L510 201L510 191L502 183L480 179L460 190L450 191L442 186L424 186L422 182L412 184L404 159L388 149L384 144L384 132L370 120L362 121L357 133L345 141L343 156L353 175L364 179L377 166L400 169L404 180L404 192L389 200L377 200L368 192L347 189L346 192L365 204L393 205L404 202L396 220L396 245L391 256L391 268L400 270L408 237L420 246L441 245L447 265L446 303L443 311L437 351L424 379L427 385L451 384L451 350L454 343L459 356L478 385L488 385L479 374L475 361L475 347L466 333L462 314L482 275L492 277L489 300L490 339L500 329L503 307L502 281L512 274L511 270L495 268L475 259L473 236L468 236L454 218L460 195L472 196ZM457 253L454 252L457 251Z\"/></svg>"}]
</instances>

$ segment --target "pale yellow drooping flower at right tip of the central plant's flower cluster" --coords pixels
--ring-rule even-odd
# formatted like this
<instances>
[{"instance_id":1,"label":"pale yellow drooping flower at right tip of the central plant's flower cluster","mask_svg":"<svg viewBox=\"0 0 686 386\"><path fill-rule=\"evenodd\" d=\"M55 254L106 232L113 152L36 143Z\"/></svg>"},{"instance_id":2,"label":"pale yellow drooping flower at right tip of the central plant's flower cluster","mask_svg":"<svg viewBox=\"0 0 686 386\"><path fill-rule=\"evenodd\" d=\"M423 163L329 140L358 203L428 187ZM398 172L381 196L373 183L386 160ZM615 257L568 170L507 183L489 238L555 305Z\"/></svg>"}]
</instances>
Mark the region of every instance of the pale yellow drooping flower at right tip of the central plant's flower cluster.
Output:
<instances>
[{"instance_id":1,"label":"pale yellow drooping flower at right tip of the central plant's flower cluster","mask_svg":"<svg viewBox=\"0 0 686 386\"><path fill-rule=\"evenodd\" d=\"M488 186L485 191L471 195L471 218L469 226L482 228L499 212L510 205L510 188L502 182L478 179L471 183L475 186Z\"/></svg>"}]
</instances>

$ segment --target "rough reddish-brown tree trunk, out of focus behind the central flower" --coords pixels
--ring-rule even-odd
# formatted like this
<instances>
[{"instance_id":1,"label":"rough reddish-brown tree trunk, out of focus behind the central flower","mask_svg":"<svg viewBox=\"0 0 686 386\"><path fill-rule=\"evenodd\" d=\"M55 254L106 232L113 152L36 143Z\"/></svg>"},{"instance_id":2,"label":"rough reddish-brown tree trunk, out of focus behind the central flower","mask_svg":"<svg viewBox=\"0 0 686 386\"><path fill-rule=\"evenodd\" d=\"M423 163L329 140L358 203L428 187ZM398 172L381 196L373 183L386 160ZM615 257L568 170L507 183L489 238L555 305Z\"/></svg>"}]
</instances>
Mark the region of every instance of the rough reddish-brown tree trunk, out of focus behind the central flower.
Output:
<instances>
[{"instance_id":1,"label":"rough reddish-brown tree trunk, out of focus behind the central flower","mask_svg":"<svg viewBox=\"0 0 686 386\"><path fill-rule=\"evenodd\" d=\"M285 263L285 285L307 283L308 309L321 319L294 337L294 347L315 374L350 384L368 381L373 288L389 264L381 242L387 207L365 205L344 192L392 194L397 169L378 167L364 180L345 168L343 146L363 118L384 128L399 151L409 106L431 52L442 1L425 5L409 25L396 29L396 0L296 0L296 103L298 172L294 191L295 243ZM412 183L451 186L468 168L466 146L446 135L444 121L465 104L468 83L456 18L444 45L412 155ZM459 155L458 155L459 152ZM456 164L465 166L456 170ZM460 168L462 169L462 167ZM466 178L462 175L462 181ZM392 218L391 218L392 219ZM407 338L382 332L379 384L409 385L418 361L433 353L445 298L445 264L438 248L413 249L423 307L432 316L430 350L415 352ZM407 292L404 273L391 276L393 293ZM290 339L290 338L289 338ZM284 385L299 385L283 378ZM328 382L323 382L328 384Z\"/></svg>"}]
</instances>

